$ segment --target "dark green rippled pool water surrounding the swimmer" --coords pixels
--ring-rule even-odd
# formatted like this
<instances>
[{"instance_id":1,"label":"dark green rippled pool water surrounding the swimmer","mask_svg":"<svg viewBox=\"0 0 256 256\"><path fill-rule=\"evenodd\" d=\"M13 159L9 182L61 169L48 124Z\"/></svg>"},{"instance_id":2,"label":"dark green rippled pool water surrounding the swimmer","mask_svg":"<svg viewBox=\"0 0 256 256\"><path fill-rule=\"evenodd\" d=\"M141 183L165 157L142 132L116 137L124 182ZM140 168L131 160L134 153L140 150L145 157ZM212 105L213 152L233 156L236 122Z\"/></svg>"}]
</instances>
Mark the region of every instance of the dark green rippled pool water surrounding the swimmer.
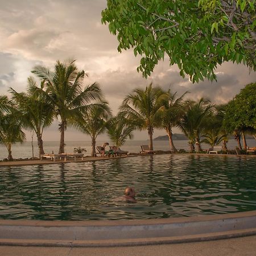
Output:
<instances>
[{"instance_id":1,"label":"dark green rippled pool water surrounding the swimmer","mask_svg":"<svg viewBox=\"0 0 256 256\"><path fill-rule=\"evenodd\" d=\"M127 186L137 203L123 199ZM256 210L256 158L155 155L0 167L0 218L123 220Z\"/></svg>"}]
</instances>

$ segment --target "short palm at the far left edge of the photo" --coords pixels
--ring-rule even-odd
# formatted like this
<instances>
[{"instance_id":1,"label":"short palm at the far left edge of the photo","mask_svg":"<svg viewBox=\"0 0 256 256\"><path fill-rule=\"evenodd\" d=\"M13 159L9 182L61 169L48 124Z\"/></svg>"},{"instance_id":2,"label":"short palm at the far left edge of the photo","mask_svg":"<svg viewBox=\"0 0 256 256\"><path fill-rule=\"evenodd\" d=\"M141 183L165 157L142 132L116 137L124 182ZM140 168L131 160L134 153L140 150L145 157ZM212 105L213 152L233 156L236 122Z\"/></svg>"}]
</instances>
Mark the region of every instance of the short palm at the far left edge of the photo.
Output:
<instances>
[{"instance_id":1,"label":"short palm at the far left edge of the photo","mask_svg":"<svg viewBox=\"0 0 256 256\"><path fill-rule=\"evenodd\" d=\"M26 135L22 131L22 117L20 112L9 106L6 113L0 117L0 144L4 144L8 151L8 160L12 161L11 146L17 142L22 143Z\"/></svg>"}]
</instances>

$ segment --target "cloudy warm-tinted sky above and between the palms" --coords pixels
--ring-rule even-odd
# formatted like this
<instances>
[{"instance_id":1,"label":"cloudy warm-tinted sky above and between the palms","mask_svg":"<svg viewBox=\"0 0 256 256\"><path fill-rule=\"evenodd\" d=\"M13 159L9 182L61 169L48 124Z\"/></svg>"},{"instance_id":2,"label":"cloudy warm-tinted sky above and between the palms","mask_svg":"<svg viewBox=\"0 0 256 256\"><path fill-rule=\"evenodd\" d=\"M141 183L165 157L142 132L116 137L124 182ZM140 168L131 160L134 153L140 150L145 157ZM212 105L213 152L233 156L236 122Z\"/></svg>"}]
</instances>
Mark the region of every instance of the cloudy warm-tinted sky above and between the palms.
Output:
<instances>
[{"instance_id":1,"label":"cloudy warm-tinted sky above and between the palms","mask_svg":"<svg viewBox=\"0 0 256 256\"><path fill-rule=\"evenodd\" d=\"M101 24L101 11L106 0L0 0L0 94L9 95L12 87L24 92L31 69L38 64L51 68L56 60L76 59L79 69L89 77L85 85L98 82L113 113L118 112L123 98L134 88L146 88L152 82L177 95L189 91L187 98L208 98L223 104L232 100L256 73L245 65L224 63L216 69L217 82L208 80L192 84L179 75L168 58L160 62L148 79L137 72L139 57L133 49L119 53L118 41L108 26ZM181 133L174 129L174 133ZM154 137L165 135L155 130ZM89 141L90 138L69 128L66 141ZM106 134L98 141L107 140ZM147 139L147 131L135 131L134 139ZM44 131L44 141L59 141L57 121ZM27 141L31 133L27 132Z\"/></svg>"}]
</instances>

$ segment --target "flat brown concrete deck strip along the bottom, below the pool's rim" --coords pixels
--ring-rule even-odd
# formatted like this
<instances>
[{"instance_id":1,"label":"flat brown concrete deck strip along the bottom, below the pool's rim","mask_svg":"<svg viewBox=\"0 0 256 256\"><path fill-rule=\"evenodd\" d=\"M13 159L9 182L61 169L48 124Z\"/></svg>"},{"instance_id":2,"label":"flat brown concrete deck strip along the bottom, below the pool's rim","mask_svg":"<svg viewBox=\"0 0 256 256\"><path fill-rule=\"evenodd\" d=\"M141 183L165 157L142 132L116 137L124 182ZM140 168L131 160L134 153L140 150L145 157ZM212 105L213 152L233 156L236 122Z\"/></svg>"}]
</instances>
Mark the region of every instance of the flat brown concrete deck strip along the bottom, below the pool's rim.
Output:
<instances>
[{"instance_id":1,"label":"flat brown concrete deck strip along the bottom, below the pool's rim","mask_svg":"<svg viewBox=\"0 0 256 256\"><path fill-rule=\"evenodd\" d=\"M224 240L124 247L0 246L3 256L255 256L256 236Z\"/></svg>"}]
</instances>

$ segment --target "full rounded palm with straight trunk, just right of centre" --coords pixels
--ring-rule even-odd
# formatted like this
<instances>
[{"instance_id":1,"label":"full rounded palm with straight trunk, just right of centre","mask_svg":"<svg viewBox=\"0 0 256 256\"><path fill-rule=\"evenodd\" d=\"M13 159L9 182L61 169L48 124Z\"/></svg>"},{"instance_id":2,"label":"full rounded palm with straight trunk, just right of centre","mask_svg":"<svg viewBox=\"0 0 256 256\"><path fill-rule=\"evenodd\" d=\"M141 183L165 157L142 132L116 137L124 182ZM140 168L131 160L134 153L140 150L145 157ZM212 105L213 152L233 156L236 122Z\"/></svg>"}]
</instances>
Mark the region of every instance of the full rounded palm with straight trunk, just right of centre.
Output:
<instances>
[{"instance_id":1,"label":"full rounded palm with straight trunk, just right of centre","mask_svg":"<svg viewBox=\"0 0 256 256\"><path fill-rule=\"evenodd\" d=\"M154 127L160 127L160 108L167 97L167 93L159 86L153 87L151 83L145 90L134 89L120 107L121 113L130 123L140 130L147 130L150 150L153 150Z\"/></svg>"}]
</instances>

